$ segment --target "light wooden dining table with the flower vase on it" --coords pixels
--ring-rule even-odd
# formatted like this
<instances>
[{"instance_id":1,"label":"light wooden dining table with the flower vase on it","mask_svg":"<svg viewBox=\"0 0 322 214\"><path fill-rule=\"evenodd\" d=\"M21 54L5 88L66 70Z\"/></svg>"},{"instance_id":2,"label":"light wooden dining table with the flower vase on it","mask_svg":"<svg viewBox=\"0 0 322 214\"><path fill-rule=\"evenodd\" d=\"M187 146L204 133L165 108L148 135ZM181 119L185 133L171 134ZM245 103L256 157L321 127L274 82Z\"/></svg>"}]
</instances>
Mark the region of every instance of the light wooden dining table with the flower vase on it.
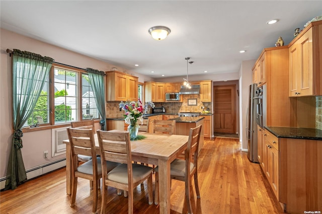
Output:
<instances>
[{"instance_id":1,"label":"light wooden dining table with the flower vase on it","mask_svg":"<svg viewBox=\"0 0 322 214\"><path fill-rule=\"evenodd\" d=\"M116 132L117 130L112 130ZM189 136L139 132L144 139L131 141L132 161L158 166L159 213L170 213L170 164L187 148ZM94 135L96 153L101 154L97 134ZM69 140L66 144L66 193L71 194L72 172Z\"/></svg>"}]
</instances>

